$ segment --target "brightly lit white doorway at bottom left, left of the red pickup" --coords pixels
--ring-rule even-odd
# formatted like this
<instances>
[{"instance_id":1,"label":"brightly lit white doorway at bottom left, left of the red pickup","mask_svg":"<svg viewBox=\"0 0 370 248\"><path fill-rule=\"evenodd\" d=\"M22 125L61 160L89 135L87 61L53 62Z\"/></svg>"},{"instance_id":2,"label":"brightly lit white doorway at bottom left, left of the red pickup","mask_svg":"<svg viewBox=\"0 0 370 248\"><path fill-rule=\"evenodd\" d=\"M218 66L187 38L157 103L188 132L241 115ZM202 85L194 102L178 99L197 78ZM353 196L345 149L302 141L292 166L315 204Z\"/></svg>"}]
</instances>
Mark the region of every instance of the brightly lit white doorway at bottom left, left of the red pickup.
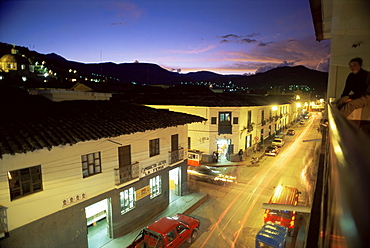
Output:
<instances>
[{"instance_id":1,"label":"brightly lit white doorway at bottom left, left of the red pickup","mask_svg":"<svg viewBox=\"0 0 370 248\"><path fill-rule=\"evenodd\" d=\"M89 248L102 247L112 239L111 198L85 208Z\"/></svg>"}]
</instances>

